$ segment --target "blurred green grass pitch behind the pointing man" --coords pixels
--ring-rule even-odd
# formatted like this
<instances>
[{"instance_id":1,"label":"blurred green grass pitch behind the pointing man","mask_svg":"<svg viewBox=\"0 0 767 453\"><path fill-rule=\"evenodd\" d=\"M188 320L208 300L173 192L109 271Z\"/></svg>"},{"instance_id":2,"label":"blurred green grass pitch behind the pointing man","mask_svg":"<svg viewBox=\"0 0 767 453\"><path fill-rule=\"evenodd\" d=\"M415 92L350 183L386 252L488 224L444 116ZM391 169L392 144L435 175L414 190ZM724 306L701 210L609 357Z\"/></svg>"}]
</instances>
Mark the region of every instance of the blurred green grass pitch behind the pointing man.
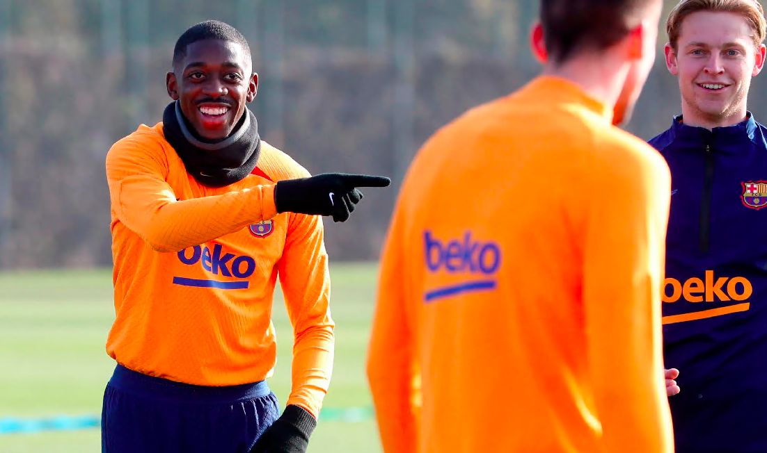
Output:
<instances>
[{"instance_id":1,"label":"blurred green grass pitch behind the pointing man","mask_svg":"<svg viewBox=\"0 0 767 453\"><path fill-rule=\"evenodd\" d=\"M375 266L337 264L331 276L336 353L325 409L371 406L364 375ZM111 274L97 271L0 273L0 419L100 413L114 362L104 352L114 318ZM285 404L290 389L292 333L281 298L275 300L278 363L269 380ZM0 435L2 453L100 451L98 429ZM370 416L321 420L313 453L376 453L380 443Z\"/></svg>"}]
</instances>

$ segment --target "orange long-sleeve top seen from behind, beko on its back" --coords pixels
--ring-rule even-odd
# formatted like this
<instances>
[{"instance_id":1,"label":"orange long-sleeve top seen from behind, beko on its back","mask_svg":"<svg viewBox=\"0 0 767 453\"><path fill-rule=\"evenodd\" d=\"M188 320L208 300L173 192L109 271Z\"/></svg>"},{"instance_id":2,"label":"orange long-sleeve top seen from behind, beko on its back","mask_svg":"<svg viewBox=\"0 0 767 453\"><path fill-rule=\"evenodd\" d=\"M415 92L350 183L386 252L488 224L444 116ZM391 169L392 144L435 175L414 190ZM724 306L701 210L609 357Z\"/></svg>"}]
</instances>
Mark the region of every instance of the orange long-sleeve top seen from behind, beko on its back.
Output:
<instances>
[{"instance_id":1,"label":"orange long-sleeve top seen from behind, beko on its back","mask_svg":"<svg viewBox=\"0 0 767 453\"><path fill-rule=\"evenodd\" d=\"M367 372L387 453L673 450L667 165L539 77L439 130L403 182Z\"/></svg>"}]
</instances>

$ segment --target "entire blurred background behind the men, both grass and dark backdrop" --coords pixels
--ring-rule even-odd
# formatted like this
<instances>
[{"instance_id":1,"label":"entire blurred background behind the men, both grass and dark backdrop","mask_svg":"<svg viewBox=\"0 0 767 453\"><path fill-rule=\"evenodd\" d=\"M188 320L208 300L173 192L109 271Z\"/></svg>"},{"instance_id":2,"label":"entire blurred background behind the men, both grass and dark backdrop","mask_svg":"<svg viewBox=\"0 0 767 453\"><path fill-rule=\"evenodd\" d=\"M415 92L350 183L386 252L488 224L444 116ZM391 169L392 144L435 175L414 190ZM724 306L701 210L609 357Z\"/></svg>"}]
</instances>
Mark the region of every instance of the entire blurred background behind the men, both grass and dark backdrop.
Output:
<instances>
[{"instance_id":1,"label":"entire blurred background behind the men, both grass and dark backdrop","mask_svg":"<svg viewBox=\"0 0 767 453\"><path fill-rule=\"evenodd\" d=\"M537 9L531 0L0 0L0 451L99 448L94 421L114 366L104 354L114 315L104 157L160 120L173 44L209 18L251 44L262 139L312 173L395 183L368 190L350 222L325 223L339 349L311 450L379 451L364 350L398 185L439 126L538 73L528 51ZM627 125L644 139L680 109L660 36ZM757 120L767 113L763 77L749 103ZM273 385L282 401L288 343Z\"/></svg>"}]
</instances>

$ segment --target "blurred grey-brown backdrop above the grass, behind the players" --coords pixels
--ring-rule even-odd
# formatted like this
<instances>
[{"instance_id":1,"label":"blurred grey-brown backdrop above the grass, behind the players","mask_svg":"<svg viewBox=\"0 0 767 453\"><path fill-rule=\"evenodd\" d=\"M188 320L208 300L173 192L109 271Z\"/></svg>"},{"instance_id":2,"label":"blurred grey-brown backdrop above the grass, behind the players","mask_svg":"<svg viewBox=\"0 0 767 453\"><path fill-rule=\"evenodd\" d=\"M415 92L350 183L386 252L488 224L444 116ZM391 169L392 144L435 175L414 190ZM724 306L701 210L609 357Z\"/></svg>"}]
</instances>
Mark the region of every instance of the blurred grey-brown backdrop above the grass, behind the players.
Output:
<instances>
[{"instance_id":1,"label":"blurred grey-brown backdrop above the grass, behind the players","mask_svg":"<svg viewBox=\"0 0 767 453\"><path fill-rule=\"evenodd\" d=\"M312 173L399 183L439 126L535 76L536 14L530 0L0 0L0 268L110 264L104 157L160 120L173 44L192 24L216 18L248 38L263 139ZM628 125L646 139L679 109L662 44ZM396 189L326 221L332 259L377 258Z\"/></svg>"}]
</instances>

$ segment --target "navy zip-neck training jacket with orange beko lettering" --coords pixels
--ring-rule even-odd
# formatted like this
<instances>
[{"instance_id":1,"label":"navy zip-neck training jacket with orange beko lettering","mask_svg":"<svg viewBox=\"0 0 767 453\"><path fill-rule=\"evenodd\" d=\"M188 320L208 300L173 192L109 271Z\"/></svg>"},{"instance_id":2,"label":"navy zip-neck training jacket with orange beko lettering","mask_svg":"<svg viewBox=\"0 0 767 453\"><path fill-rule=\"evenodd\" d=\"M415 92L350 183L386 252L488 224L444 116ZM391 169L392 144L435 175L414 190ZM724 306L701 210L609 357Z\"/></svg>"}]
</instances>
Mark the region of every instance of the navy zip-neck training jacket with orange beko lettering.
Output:
<instances>
[{"instance_id":1,"label":"navy zip-neck training jacket with orange beko lettering","mask_svg":"<svg viewBox=\"0 0 767 453\"><path fill-rule=\"evenodd\" d=\"M712 131L676 117L650 140L671 170L663 353L680 370L679 453L767 452L767 209L743 198L744 184L767 181L765 137L749 112ZM745 311L683 321L734 306Z\"/></svg>"}]
</instances>

